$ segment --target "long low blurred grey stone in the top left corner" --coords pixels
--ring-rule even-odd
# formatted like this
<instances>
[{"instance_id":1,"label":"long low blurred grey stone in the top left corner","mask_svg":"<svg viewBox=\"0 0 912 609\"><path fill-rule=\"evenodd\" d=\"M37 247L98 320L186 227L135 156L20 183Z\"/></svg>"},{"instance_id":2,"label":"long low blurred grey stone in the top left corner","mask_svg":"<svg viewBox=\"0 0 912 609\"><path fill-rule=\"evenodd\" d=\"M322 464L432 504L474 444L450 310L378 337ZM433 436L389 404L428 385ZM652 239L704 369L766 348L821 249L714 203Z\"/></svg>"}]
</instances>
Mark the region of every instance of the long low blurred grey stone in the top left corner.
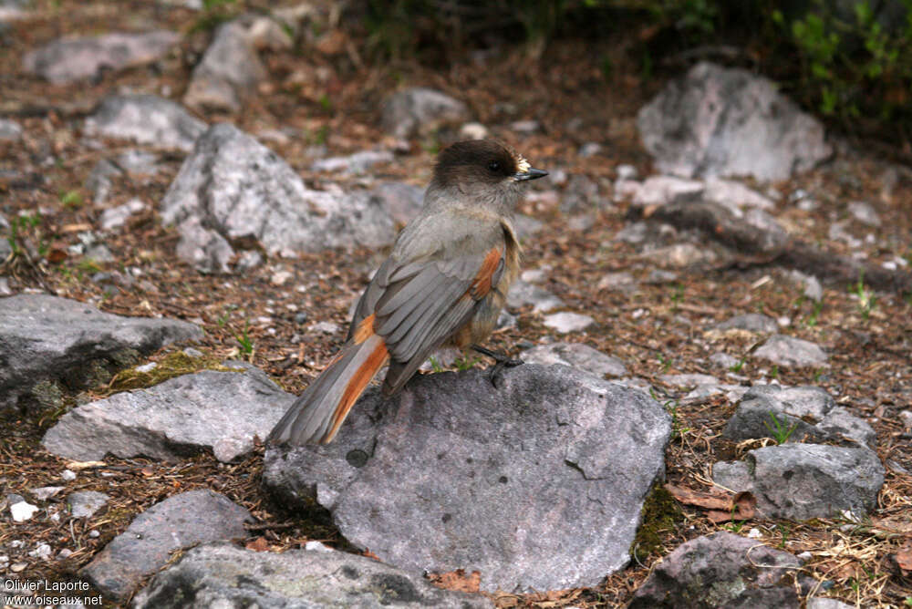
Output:
<instances>
[{"instance_id":1,"label":"long low blurred grey stone in the top left corner","mask_svg":"<svg viewBox=\"0 0 912 609\"><path fill-rule=\"evenodd\" d=\"M103 70L150 64L161 59L181 36L174 32L115 32L97 37L60 38L26 53L27 72L56 85L100 77Z\"/></svg>"}]
</instances>

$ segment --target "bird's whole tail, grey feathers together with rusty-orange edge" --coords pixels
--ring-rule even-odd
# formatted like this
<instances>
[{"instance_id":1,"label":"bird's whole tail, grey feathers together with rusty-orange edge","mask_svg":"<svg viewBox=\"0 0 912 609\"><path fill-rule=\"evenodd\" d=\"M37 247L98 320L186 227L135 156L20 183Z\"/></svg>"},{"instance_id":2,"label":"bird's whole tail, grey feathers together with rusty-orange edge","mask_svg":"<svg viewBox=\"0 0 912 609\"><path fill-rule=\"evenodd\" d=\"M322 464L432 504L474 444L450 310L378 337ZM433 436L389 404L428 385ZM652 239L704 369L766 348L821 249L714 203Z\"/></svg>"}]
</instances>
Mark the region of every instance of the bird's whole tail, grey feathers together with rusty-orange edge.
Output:
<instances>
[{"instance_id":1,"label":"bird's whole tail, grey feathers together with rusty-orange edge","mask_svg":"<svg viewBox=\"0 0 912 609\"><path fill-rule=\"evenodd\" d=\"M266 441L295 446L331 442L348 411L387 360L389 351L383 338L372 332L356 335L288 408Z\"/></svg>"}]
</instances>

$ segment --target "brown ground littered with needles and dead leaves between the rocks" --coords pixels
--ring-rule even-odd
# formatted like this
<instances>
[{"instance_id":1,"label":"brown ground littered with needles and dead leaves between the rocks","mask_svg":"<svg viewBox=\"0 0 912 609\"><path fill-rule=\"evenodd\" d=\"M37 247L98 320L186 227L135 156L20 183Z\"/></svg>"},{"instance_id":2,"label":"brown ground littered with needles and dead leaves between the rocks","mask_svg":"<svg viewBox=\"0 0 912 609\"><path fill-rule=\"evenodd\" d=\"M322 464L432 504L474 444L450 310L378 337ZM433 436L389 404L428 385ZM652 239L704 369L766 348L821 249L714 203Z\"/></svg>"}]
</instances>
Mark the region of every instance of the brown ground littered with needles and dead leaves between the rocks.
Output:
<instances>
[{"instance_id":1,"label":"brown ground littered with needles and dead leaves between the rocks","mask_svg":"<svg viewBox=\"0 0 912 609\"><path fill-rule=\"evenodd\" d=\"M83 187L98 159L118 150L140 148L109 141L104 150L87 147L80 138L82 119L112 91L130 89L180 98L187 87L194 57L205 48L211 28L200 26L201 14L146 2L37 2L36 16L13 22L2 35L0 50L0 116L23 126L22 143L0 147L0 209L7 218L40 210L36 226L24 235L36 245L47 243L56 262L19 259L8 264L14 291L50 289L60 296L91 300L107 312L120 315L169 316L200 323L205 338L198 346L207 356L244 357L263 368L289 391L299 392L326 364L343 339L342 333L309 333L317 321L347 325L352 300L367 284L366 277L382 252L326 252L296 259L270 259L242 275L200 274L174 253L177 233L163 227L154 211L180 168L181 157L165 155L162 170L141 179L115 181L106 204L133 197L150 204L150 211L131 218L129 225L104 237L114 263L97 263L67 253L78 233L98 226L100 209ZM117 29L166 27L186 34L179 47L154 67L109 74L98 83L52 86L21 70L21 57L30 48L69 33L95 34ZM350 36L357 49L363 42ZM631 39L637 32L628 34ZM232 120L241 129L258 133L290 129L287 141L267 145L299 171L308 185L320 187L337 176L314 175L308 170L312 147L325 143L329 155L347 154L390 144L379 129L379 102L405 85L440 88L465 100L475 117L495 137L513 144L535 167L585 173L610 196L609 182L618 164L652 172L648 156L637 140L637 109L663 83L662 77L644 78L628 56L630 40L591 42L559 40L549 46L539 63L530 62L523 49L503 48L486 61L462 57L444 69L422 67L415 61L368 65L357 54L325 54L302 44L284 52L264 55L270 76L242 113L205 116L209 122ZM601 58L615 67L606 77ZM519 135L509 129L513 120L534 119L541 129ZM579 147L590 141L601 151L583 158ZM430 177L434 153L441 140L415 141L411 149L374 172L376 181L400 180L424 185ZM843 151L819 170L772 185L781 195L775 214L787 228L834 251L845 244L831 242L831 222L848 217L848 201L868 201L883 225L867 229L874 239L865 243L870 262L905 256L912 263L912 175L899 171L885 178L889 163L862 147ZM10 178L10 171L17 177ZM360 179L354 179L358 181ZM343 183L343 188L355 184ZM547 184L536 184L538 189ZM819 206L803 211L789 201L803 189L813 193ZM765 187L764 187L765 190ZM560 191L558 191L560 193ZM868 420L877 432L878 454L886 467L886 483L878 509L855 525L816 519L793 521L733 521L713 523L704 511L687 505L665 506L650 512L647 524L654 533L634 552L627 569L593 589L494 594L502 607L617 606L626 603L649 573L650 565L681 542L706 532L730 530L742 534L757 529L760 542L798 554L810 552L803 574L817 580L815 594L838 597L865 607L912 604L912 574L896 562L897 552L912 543L912 449L898 413L912 407L912 298L903 294L875 294L865 306L864 287L826 285L821 305L802 294L801 286L774 266L751 260L727 261L679 271L669 284L641 283L634 294L598 289L606 273L627 271L644 279L655 263L637 254L632 245L614 241L627 221L627 204L620 202L592 211L594 225L585 231L568 227L568 219L547 197L523 203L521 211L545 223L544 230L526 239L523 267L548 268L544 287L559 296L567 308L592 315L596 325L570 340L586 343L620 358L630 374L668 390L676 433L668 446L668 481L694 490L710 488L711 465L735 459L763 441L734 445L720 437L734 405L714 396L697 402L679 402L681 392L666 387L658 377L675 373L724 375L708 357L725 351L743 360L736 372L745 384L778 378L788 385L813 384L826 388L837 401ZM864 236L864 235L862 235ZM847 252L847 251L845 251ZM99 285L89 278L98 271L115 272L136 267L142 281L129 288ZM293 274L284 284L274 282L277 271ZM757 336L708 335L711 325L743 313L763 313L790 320L788 334L814 341L831 354L821 369L775 368L751 359ZM304 313L307 322L295 322ZM515 354L523 343L536 344L549 331L540 315L527 307L518 327L492 338L494 348ZM245 337L252 349L244 348ZM178 347L167 347L150 357L161 361ZM80 399L106 395L118 387L118 378L95 387ZM76 396L67 396L67 404ZM54 523L36 518L13 523L0 519L0 553L10 563L27 564L21 576L37 579L73 579L78 569L123 532L132 518L152 504L194 488L222 492L249 509L258 525L246 543L256 549L281 551L321 540L346 548L325 513L289 514L260 487L262 449L243 462L225 465L212 454L201 454L177 464L149 459L105 459L103 467L83 470L74 482L59 474L67 461L41 449L43 432L59 416L41 412L0 422L0 489L24 493L35 487L65 484L72 490L100 490L110 495L108 506L88 521L62 519ZM769 440L772 441L772 440ZM651 519L651 520L650 520ZM97 530L98 537L89 532ZM21 555L8 544L24 540ZM47 542L55 553L75 550L65 560L42 561L25 550ZM449 581L449 585L456 585Z\"/></svg>"}]
</instances>

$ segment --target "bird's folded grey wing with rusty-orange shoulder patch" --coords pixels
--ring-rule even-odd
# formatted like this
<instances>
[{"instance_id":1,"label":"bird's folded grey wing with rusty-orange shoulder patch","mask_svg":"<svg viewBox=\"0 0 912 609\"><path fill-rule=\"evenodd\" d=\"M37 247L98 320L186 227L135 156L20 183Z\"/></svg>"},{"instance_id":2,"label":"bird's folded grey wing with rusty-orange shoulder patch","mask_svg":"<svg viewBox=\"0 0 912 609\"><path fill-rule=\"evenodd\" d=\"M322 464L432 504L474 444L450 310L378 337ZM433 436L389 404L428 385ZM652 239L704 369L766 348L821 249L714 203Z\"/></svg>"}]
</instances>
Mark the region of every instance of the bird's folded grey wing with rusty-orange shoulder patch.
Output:
<instances>
[{"instance_id":1,"label":"bird's folded grey wing with rusty-orange shoulder patch","mask_svg":"<svg viewBox=\"0 0 912 609\"><path fill-rule=\"evenodd\" d=\"M420 257L391 256L358 302L349 338L377 334L389 350L384 391L399 390L431 352L465 325L500 281L506 242L500 224L461 222Z\"/></svg>"}]
</instances>

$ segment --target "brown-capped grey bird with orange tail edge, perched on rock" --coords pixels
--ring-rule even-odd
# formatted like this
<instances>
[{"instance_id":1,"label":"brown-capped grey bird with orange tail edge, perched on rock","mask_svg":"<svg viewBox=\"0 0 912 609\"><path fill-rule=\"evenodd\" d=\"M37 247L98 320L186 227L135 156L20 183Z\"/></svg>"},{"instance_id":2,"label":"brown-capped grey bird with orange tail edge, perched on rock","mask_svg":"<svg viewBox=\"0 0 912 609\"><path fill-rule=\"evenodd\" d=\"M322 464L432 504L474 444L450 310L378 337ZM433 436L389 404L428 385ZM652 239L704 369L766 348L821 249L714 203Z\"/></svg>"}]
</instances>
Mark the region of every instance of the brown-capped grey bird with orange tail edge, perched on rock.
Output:
<instances>
[{"instance_id":1,"label":"brown-capped grey bird with orange tail edge, perched on rock","mask_svg":"<svg viewBox=\"0 0 912 609\"><path fill-rule=\"evenodd\" d=\"M361 294L346 344L267 441L332 441L388 361L383 393L392 395L440 346L496 356L477 344L491 335L519 273L513 210L520 183L545 175L488 139L441 151L421 212Z\"/></svg>"}]
</instances>

